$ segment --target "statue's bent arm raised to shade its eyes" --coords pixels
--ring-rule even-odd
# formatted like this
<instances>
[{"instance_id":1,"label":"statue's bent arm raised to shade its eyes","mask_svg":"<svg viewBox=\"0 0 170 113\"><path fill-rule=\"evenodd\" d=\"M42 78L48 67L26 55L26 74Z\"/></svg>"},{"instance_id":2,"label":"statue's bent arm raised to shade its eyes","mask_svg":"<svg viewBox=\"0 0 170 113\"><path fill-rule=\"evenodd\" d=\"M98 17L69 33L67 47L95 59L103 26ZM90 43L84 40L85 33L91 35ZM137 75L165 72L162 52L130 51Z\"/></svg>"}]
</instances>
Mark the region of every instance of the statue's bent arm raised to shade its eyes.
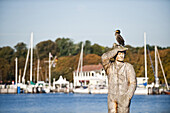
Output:
<instances>
[{"instance_id":1,"label":"statue's bent arm raised to shade its eyes","mask_svg":"<svg viewBox=\"0 0 170 113\"><path fill-rule=\"evenodd\" d=\"M101 57L102 65L103 65L103 68L105 69L107 75L109 75L109 67L111 64L110 59L113 58L115 55L116 55L116 51L111 50L111 51L104 53Z\"/></svg>"}]
</instances>

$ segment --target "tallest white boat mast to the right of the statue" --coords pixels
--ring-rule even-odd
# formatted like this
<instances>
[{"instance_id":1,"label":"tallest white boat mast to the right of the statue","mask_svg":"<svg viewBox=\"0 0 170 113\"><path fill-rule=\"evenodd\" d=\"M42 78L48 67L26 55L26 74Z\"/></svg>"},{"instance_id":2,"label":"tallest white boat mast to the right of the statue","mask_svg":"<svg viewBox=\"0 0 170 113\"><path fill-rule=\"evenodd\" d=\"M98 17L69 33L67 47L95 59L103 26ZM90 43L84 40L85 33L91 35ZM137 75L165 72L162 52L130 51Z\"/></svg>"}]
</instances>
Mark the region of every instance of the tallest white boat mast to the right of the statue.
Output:
<instances>
[{"instance_id":1,"label":"tallest white boat mast to the right of the statue","mask_svg":"<svg viewBox=\"0 0 170 113\"><path fill-rule=\"evenodd\" d=\"M146 55L146 32L144 32L144 58L145 58L145 80L148 83L147 79L147 55Z\"/></svg>"}]
</instances>

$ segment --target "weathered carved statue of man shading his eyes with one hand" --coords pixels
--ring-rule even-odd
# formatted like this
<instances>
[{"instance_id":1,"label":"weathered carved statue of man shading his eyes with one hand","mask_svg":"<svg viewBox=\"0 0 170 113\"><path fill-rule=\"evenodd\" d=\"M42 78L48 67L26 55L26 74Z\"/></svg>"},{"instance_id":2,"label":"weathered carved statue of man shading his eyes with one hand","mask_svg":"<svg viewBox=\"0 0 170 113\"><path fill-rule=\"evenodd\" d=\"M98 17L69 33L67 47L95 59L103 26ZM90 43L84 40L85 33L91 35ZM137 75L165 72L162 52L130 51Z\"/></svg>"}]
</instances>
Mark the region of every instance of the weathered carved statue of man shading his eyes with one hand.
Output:
<instances>
[{"instance_id":1,"label":"weathered carved statue of man shading his eyes with one hand","mask_svg":"<svg viewBox=\"0 0 170 113\"><path fill-rule=\"evenodd\" d=\"M129 113L131 98L136 89L136 74L124 61L128 48L116 46L102 55L102 65L108 75L108 113ZM114 61L111 59L114 58Z\"/></svg>"}]
</instances>

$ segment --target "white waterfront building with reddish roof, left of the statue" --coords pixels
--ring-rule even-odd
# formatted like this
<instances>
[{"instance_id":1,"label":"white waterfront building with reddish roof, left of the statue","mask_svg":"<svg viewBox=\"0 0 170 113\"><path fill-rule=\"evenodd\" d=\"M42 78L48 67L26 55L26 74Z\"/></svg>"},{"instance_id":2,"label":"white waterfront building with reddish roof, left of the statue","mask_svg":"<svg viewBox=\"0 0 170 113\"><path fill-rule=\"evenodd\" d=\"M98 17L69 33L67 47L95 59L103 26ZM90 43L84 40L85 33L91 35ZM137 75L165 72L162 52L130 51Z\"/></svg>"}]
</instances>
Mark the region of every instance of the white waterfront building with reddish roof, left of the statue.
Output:
<instances>
[{"instance_id":1,"label":"white waterfront building with reddish roof, left of the statue","mask_svg":"<svg viewBox=\"0 0 170 113\"><path fill-rule=\"evenodd\" d=\"M101 64L85 65L82 67L82 72L75 70L73 72L74 88L76 87L107 87L108 78Z\"/></svg>"}]
</instances>

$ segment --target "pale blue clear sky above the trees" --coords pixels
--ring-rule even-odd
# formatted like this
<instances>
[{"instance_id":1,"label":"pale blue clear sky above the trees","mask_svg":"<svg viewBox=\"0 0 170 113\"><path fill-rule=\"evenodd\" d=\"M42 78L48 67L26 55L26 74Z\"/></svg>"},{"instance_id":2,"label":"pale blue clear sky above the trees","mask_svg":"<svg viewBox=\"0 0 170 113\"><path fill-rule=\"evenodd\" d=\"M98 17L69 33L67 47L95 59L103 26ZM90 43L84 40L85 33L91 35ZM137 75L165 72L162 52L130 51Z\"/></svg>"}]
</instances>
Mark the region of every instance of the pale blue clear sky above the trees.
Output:
<instances>
[{"instance_id":1,"label":"pale blue clear sky above the trees","mask_svg":"<svg viewBox=\"0 0 170 113\"><path fill-rule=\"evenodd\" d=\"M170 46L169 0L0 0L0 47L34 46L59 37L112 47L120 29L125 44Z\"/></svg>"}]
</instances>

